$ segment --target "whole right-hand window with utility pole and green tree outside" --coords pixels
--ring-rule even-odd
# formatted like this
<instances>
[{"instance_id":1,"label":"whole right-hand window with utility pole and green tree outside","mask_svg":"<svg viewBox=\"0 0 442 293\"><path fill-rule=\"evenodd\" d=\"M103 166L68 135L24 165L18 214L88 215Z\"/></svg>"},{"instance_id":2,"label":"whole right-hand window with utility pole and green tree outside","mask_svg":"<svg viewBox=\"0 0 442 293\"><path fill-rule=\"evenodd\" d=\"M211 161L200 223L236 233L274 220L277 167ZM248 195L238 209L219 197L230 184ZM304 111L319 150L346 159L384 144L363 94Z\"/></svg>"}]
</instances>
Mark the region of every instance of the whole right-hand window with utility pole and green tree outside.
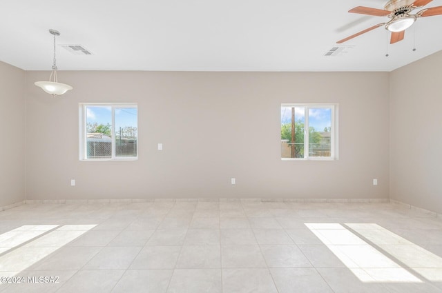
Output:
<instances>
[{"instance_id":1,"label":"whole right-hand window with utility pole and green tree outside","mask_svg":"<svg viewBox=\"0 0 442 293\"><path fill-rule=\"evenodd\" d=\"M338 159L336 104L281 105L281 159Z\"/></svg>"}]
</instances>

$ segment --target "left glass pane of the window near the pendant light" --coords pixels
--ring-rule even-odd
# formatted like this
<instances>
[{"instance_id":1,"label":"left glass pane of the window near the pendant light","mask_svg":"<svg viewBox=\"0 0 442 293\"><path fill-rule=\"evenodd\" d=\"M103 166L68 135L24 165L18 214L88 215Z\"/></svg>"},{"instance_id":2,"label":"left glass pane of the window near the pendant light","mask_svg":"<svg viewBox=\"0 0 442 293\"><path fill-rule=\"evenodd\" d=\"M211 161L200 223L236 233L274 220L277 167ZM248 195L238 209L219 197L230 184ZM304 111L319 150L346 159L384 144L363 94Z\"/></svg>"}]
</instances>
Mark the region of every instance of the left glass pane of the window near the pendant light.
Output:
<instances>
[{"instance_id":1,"label":"left glass pane of the window near the pendant light","mask_svg":"<svg viewBox=\"0 0 442 293\"><path fill-rule=\"evenodd\" d=\"M86 107L87 159L112 157L112 111L111 107Z\"/></svg>"}]
</instances>

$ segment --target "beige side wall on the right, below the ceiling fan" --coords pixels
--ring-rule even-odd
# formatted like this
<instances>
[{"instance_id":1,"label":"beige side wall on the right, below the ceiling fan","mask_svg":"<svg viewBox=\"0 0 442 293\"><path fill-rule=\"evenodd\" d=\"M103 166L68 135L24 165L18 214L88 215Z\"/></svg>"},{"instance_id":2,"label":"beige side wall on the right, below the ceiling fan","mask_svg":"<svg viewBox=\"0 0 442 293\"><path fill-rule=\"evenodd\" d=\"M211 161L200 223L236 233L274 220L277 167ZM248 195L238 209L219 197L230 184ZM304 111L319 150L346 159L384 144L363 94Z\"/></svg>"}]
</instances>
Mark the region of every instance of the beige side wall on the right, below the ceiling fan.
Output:
<instances>
[{"instance_id":1,"label":"beige side wall on the right, below the ceiling fan","mask_svg":"<svg viewBox=\"0 0 442 293\"><path fill-rule=\"evenodd\" d=\"M442 51L390 74L390 196L442 212Z\"/></svg>"}]
</instances>

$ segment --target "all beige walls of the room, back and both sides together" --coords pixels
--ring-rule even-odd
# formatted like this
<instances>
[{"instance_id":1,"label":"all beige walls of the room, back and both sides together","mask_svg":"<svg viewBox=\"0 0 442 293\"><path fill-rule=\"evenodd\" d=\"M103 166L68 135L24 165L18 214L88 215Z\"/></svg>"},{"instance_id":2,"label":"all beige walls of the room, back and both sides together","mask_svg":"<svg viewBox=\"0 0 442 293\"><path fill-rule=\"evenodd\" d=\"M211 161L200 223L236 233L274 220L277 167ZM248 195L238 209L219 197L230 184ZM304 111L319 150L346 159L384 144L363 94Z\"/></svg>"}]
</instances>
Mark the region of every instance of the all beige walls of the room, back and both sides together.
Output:
<instances>
[{"instance_id":1,"label":"all beige walls of the room, back and both sides together","mask_svg":"<svg viewBox=\"0 0 442 293\"><path fill-rule=\"evenodd\" d=\"M26 187L28 199L390 194L442 212L441 62L390 74L60 72L75 90L55 99L33 85L48 72L0 62L0 206ZM126 101L139 105L140 159L79 161L78 103ZM280 161L280 103L303 102L339 103L338 161Z\"/></svg>"}]
</instances>

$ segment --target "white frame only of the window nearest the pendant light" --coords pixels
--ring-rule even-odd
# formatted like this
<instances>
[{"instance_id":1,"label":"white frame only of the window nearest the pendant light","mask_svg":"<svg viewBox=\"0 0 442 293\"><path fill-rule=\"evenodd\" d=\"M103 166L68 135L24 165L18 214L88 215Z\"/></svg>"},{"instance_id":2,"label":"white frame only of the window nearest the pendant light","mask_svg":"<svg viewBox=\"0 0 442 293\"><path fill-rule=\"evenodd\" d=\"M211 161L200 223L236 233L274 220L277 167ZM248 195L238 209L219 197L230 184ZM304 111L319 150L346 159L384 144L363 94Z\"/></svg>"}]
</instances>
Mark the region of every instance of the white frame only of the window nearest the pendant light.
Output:
<instances>
[{"instance_id":1,"label":"white frame only of the window nearest the pendant light","mask_svg":"<svg viewBox=\"0 0 442 293\"><path fill-rule=\"evenodd\" d=\"M87 139L86 139L86 108L87 107L110 107L112 111L112 154L111 158L94 158L87 157ZM138 105L137 103L79 103L79 160L80 161L136 161L138 159L138 143L137 134L137 156L116 156L115 155L115 108L137 108L137 128L138 128ZM138 132L137 132L138 133Z\"/></svg>"}]
</instances>

